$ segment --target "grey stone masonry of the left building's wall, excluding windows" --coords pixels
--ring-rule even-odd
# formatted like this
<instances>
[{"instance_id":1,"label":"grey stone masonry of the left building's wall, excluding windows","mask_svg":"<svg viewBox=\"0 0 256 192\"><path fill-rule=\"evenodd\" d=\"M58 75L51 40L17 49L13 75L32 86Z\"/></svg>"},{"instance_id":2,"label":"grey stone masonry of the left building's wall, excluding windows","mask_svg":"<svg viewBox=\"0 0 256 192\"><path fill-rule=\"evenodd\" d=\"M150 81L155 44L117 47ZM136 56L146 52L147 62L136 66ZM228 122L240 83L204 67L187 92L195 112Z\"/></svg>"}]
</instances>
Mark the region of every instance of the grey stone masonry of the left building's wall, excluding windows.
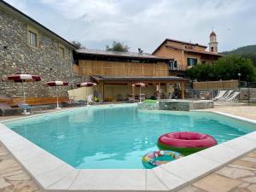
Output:
<instances>
[{"instance_id":1,"label":"grey stone masonry of the left building's wall, excluding windows","mask_svg":"<svg viewBox=\"0 0 256 192\"><path fill-rule=\"evenodd\" d=\"M27 45L27 24L0 10L0 78L14 73L41 75L42 81L26 83L26 96L55 96L52 87L43 83L50 80L75 81L73 77L73 50L65 47L66 58L59 56L55 38L39 32L39 48ZM63 44L62 44L63 45ZM69 87L60 87L60 96L67 96ZM22 96L21 84L0 82L0 95Z\"/></svg>"}]
</instances>

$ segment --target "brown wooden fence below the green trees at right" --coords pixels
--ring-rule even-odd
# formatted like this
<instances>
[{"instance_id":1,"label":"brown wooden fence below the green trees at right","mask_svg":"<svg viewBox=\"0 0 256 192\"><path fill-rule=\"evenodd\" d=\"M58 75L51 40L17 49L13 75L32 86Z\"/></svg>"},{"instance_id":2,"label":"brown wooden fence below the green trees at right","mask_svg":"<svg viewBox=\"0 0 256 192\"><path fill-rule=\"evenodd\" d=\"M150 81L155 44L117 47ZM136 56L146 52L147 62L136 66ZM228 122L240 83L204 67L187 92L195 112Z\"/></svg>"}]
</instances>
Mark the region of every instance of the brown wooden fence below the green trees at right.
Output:
<instances>
[{"instance_id":1,"label":"brown wooden fence below the green trees at right","mask_svg":"<svg viewBox=\"0 0 256 192\"><path fill-rule=\"evenodd\" d=\"M193 82L195 90L237 89L238 80Z\"/></svg>"}]
</instances>

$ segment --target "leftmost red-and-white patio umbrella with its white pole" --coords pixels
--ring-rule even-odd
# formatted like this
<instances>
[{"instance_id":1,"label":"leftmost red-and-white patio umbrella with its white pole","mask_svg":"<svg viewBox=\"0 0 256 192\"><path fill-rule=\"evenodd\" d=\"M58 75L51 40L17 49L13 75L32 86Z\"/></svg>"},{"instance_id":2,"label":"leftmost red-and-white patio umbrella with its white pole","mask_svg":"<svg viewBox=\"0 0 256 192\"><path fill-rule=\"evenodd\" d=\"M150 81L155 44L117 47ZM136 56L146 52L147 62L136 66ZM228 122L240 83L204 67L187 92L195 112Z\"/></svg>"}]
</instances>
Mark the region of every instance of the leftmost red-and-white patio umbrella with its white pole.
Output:
<instances>
[{"instance_id":1,"label":"leftmost red-and-white patio umbrella with its white pole","mask_svg":"<svg viewBox=\"0 0 256 192\"><path fill-rule=\"evenodd\" d=\"M35 82L35 81L40 81L40 80L41 80L41 77L39 75L32 75L32 74L14 74L14 75L9 75L3 79L3 81L11 81L11 82L22 84L22 93L23 93L24 104L26 104L24 82Z\"/></svg>"}]
</instances>

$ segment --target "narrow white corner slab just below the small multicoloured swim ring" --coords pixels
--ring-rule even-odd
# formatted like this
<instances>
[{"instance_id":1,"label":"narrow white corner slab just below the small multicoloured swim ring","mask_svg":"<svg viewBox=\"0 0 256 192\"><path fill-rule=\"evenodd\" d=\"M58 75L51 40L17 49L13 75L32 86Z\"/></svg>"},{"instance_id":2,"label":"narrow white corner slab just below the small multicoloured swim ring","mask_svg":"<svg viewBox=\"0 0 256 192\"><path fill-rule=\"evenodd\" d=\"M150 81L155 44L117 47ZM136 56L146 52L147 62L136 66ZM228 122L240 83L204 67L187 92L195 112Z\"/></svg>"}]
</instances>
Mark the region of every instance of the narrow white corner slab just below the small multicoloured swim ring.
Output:
<instances>
[{"instance_id":1,"label":"narrow white corner slab just below the small multicoloured swim ring","mask_svg":"<svg viewBox=\"0 0 256 192\"><path fill-rule=\"evenodd\" d=\"M152 171L169 190L180 188L187 183L183 178L177 177L170 172L166 172L166 170L160 167L156 167L152 169Z\"/></svg>"}]
</instances>

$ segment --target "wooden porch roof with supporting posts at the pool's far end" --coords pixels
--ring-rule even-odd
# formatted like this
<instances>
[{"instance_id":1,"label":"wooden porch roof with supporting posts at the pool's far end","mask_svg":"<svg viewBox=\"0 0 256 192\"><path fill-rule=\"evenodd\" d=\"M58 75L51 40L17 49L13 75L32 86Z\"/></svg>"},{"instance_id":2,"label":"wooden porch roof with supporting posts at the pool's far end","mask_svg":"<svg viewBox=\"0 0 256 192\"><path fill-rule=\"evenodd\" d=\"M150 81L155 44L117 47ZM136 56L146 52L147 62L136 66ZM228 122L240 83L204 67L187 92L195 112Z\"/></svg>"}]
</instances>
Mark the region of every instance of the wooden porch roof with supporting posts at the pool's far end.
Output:
<instances>
[{"instance_id":1,"label":"wooden porch roof with supporting posts at the pool's far end","mask_svg":"<svg viewBox=\"0 0 256 192\"><path fill-rule=\"evenodd\" d=\"M135 97L135 87L132 84L144 83L144 84L155 84L156 90L160 89L160 84L180 84L181 98L184 99L185 83L187 79L183 79L176 76L160 76L160 77L150 77L150 76L104 76L104 75L94 75L91 79L96 81L97 84L102 86L102 95L104 96L105 84L131 84L132 96ZM159 96L158 96L159 97Z\"/></svg>"}]
</instances>

